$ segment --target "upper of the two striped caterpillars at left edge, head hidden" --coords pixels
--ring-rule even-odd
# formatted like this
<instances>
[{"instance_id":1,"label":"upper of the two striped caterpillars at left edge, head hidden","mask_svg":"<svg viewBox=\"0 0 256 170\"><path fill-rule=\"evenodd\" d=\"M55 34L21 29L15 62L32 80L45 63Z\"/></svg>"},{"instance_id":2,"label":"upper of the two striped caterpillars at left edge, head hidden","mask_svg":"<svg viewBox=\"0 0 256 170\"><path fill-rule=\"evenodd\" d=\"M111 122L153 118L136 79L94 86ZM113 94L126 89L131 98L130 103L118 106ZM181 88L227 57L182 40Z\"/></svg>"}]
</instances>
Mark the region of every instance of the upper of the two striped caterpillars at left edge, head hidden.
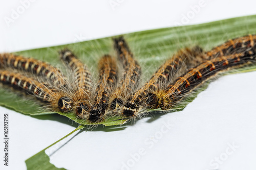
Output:
<instances>
[{"instance_id":1,"label":"upper of the two striped caterpillars at left edge, head hidden","mask_svg":"<svg viewBox=\"0 0 256 170\"><path fill-rule=\"evenodd\" d=\"M67 78L58 68L33 58L26 58L10 53L0 54L0 68L19 70L51 80L51 84L58 88L66 87L67 85Z\"/></svg>"}]
</instances>

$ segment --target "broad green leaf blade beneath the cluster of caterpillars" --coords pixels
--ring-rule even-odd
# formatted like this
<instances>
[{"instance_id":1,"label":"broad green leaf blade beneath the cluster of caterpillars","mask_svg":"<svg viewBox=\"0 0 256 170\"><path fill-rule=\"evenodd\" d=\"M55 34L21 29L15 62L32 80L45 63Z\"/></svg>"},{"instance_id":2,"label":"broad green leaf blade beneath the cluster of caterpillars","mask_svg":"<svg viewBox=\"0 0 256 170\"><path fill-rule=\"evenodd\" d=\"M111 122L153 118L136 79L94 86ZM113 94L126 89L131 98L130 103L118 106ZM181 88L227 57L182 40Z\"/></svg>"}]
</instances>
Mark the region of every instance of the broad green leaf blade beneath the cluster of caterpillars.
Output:
<instances>
[{"instance_id":1,"label":"broad green leaf blade beneath the cluster of caterpillars","mask_svg":"<svg viewBox=\"0 0 256 170\"><path fill-rule=\"evenodd\" d=\"M143 77L147 79L164 60L177 52L179 48L200 45L207 51L228 39L255 33L256 15L252 15L204 23L201 25L130 33L124 35L124 37L129 43L136 59L142 66ZM97 61L103 54L110 53L115 55L111 37L22 51L16 54L44 60L65 70L57 54L57 52L64 47L73 50L84 63L92 66L94 75L97 74ZM244 67L238 70L240 72L253 71L256 70L256 66ZM204 86L204 88L206 88L206 86ZM187 101L191 102L194 99L195 96L187 99ZM51 112L38 110L40 105L35 102L35 100L24 100L23 96L14 92L5 91L3 88L0 89L0 105L26 115L52 114ZM185 106L178 106L178 110L184 107ZM67 116L79 124L89 124L84 120L77 119L73 113L59 114ZM126 119L122 120L120 117L113 117L105 120L102 124L105 126L121 125L126 121Z\"/></svg>"}]
</instances>

